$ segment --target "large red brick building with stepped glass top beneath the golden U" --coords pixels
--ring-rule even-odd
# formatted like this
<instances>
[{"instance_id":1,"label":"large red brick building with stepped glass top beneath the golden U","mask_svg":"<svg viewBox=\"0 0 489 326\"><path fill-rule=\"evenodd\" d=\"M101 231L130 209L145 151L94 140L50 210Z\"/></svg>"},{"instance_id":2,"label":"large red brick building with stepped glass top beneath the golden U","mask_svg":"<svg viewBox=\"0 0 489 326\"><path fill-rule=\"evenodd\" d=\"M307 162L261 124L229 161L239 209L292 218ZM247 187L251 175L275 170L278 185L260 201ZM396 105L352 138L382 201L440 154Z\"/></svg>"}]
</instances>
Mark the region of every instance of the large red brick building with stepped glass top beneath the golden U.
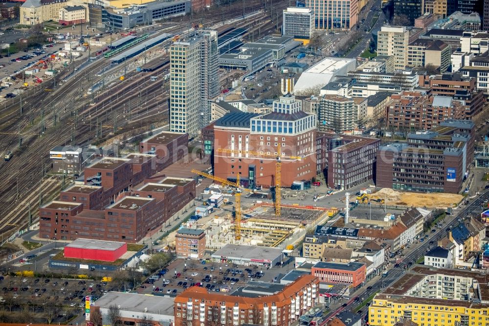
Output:
<instances>
[{"instance_id":1,"label":"large red brick building with stepped glass top beneath the golden U","mask_svg":"<svg viewBox=\"0 0 489 326\"><path fill-rule=\"evenodd\" d=\"M302 111L301 104L293 96L282 96L273 102L270 113L228 113L218 119L214 175L236 180L239 174L243 186L268 188L275 186L275 166L281 156L282 186L311 180L316 175L316 116ZM292 156L297 158L288 158Z\"/></svg>"}]
</instances>

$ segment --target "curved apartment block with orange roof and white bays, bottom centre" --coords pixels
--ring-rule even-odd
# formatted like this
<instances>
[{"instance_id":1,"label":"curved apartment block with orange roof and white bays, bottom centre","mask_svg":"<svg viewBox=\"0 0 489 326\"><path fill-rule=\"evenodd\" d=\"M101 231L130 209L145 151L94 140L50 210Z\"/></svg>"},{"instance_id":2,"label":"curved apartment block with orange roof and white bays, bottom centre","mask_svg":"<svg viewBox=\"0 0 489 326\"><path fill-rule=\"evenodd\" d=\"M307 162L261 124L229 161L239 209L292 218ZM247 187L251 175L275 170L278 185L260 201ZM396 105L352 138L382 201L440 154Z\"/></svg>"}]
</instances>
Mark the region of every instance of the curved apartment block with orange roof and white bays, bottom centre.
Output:
<instances>
[{"instance_id":1,"label":"curved apartment block with orange roof and white bays, bottom centre","mask_svg":"<svg viewBox=\"0 0 489 326\"><path fill-rule=\"evenodd\" d=\"M244 295L208 293L192 286L175 298L175 325L289 326L319 303L319 280L303 275L288 285L253 287ZM250 292L255 295L250 295Z\"/></svg>"}]
</instances>

